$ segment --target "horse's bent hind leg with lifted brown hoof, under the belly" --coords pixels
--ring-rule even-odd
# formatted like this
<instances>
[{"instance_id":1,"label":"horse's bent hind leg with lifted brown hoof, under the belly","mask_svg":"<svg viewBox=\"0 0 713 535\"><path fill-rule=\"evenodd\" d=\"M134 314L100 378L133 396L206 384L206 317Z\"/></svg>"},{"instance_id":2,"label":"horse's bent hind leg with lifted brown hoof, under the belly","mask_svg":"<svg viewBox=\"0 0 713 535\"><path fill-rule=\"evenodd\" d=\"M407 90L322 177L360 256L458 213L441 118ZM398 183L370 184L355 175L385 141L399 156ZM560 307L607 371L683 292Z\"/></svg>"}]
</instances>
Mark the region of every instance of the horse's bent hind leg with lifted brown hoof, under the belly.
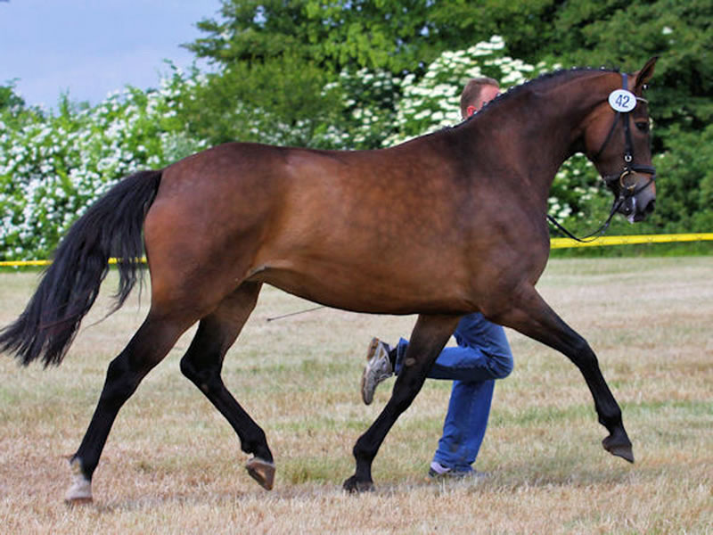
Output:
<instances>
[{"instance_id":1,"label":"horse's bent hind leg with lifted brown hoof, under the belly","mask_svg":"<svg viewBox=\"0 0 713 535\"><path fill-rule=\"evenodd\" d=\"M191 346L181 359L181 371L206 395L233 426L242 451L254 457L248 473L266 490L273 488L275 465L265 432L225 388L220 376L225 352L233 345L258 300L261 284L243 283L209 316L203 317Z\"/></svg>"}]
</instances>

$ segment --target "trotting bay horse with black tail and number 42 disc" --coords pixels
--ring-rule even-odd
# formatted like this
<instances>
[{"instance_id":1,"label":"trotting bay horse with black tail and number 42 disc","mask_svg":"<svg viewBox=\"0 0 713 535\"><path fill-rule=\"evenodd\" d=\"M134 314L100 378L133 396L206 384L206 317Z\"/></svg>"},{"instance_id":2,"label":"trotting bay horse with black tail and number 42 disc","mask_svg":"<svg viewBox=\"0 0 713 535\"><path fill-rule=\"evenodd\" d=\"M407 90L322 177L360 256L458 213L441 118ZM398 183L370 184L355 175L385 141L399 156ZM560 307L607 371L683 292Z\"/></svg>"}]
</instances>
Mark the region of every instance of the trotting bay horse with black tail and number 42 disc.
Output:
<instances>
[{"instance_id":1,"label":"trotting bay horse with black tail and number 42 disc","mask_svg":"<svg viewBox=\"0 0 713 535\"><path fill-rule=\"evenodd\" d=\"M60 364L119 259L119 308L140 280L151 307L114 358L89 427L70 458L69 502L91 501L94 469L120 407L178 337L199 322L181 371L233 426L246 466L270 490L265 432L221 379L230 348L272 284L337 309L418 314L403 371L380 416L356 440L348 491L373 489L372 463L463 315L479 311L561 351L594 397L611 454L634 462L617 401L593 350L535 289L549 255L548 190L584 152L632 221L653 209L643 88L633 75L561 70L512 89L455 128L374 151L223 144L115 185L70 228L26 309L0 333L24 365ZM612 103L611 95L634 108ZM632 104L632 103L628 103Z\"/></svg>"}]
</instances>

